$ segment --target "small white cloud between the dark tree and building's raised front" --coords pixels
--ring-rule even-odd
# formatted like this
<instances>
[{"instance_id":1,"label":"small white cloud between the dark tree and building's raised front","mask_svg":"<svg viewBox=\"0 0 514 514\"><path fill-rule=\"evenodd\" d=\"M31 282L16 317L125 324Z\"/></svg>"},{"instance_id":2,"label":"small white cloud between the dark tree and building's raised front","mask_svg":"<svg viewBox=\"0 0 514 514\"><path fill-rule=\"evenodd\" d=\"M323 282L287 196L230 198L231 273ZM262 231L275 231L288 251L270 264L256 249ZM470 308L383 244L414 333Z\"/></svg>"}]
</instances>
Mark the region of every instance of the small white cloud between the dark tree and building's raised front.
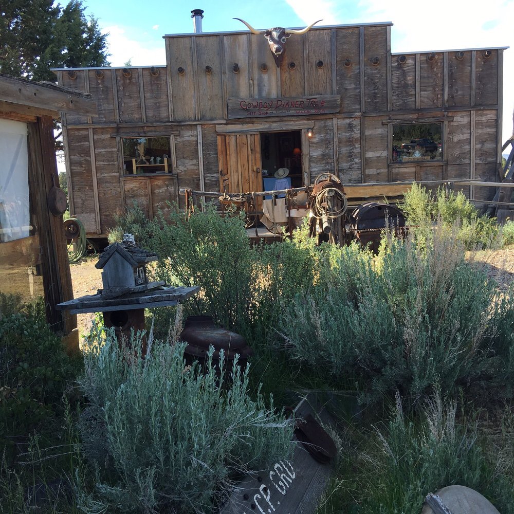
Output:
<instances>
[{"instance_id":1,"label":"small white cloud between the dark tree and building's raised front","mask_svg":"<svg viewBox=\"0 0 514 514\"><path fill-rule=\"evenodd\" d=\"M123 66L128 60L132 66L153 66L166 64L164 40L141 42L132 38L130 29L120 25L104 27L102 32L108 32L107 45L111 56L112 66Z\"/></svg>"}]
</instances>

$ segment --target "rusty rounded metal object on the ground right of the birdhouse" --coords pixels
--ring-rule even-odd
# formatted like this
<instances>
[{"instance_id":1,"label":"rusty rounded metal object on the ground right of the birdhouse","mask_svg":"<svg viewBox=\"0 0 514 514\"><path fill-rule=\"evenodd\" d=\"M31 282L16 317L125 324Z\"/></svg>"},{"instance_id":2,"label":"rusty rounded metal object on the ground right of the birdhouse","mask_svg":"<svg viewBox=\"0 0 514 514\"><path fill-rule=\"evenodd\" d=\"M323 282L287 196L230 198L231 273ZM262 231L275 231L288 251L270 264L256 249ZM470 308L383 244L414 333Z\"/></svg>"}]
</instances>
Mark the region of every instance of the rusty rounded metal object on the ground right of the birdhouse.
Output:
<instances>
[{"instance_id":1,"label":"rusty rounded metal object on the ground right of the birdhouse","mask_svg":"<svg viewBox=\"0 0 514 514\"><path fill-rule=\"evenodd\" d=\"M209 347L214 346L213 363L219 363L221 350L225 354L225 362L229 364L236 354L240 356L239 364L245 365L253 350L248 346L246 339L225 328L218 327L212 316L189 316L186 319L180 340L187 342L185 355L189 360L206 361Z\"/></svg>"}]
</instances>

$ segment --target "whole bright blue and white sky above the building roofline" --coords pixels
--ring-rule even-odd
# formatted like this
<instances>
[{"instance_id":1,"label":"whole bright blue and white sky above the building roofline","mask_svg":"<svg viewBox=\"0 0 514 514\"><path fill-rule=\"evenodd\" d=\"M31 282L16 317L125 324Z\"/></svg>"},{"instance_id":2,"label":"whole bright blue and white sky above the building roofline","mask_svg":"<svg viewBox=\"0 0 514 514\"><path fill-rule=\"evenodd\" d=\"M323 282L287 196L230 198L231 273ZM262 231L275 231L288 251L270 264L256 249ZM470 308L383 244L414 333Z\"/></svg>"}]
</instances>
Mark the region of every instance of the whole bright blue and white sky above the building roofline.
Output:
<instances>
[{"instance_id":1,"label":"whole bright blue and white sky above the building roofline","mask_svg":"<svg viewBox=\"0 0 514 514\"><path fill-rule=\"evenodd\" d=\"M64 1L61 3L65 3ZM256 29L272 26L392 22L393 52L512 46L504 52L503 135L512 134L514 109L514 0L83 0L87 15L108 32L111 64L123 66L166 64L164 34L193 31L192 9L204 9L203 31L245 30L233 17ZM423 6L416 10L415 6Z\"/></svg>"}]
</instances>

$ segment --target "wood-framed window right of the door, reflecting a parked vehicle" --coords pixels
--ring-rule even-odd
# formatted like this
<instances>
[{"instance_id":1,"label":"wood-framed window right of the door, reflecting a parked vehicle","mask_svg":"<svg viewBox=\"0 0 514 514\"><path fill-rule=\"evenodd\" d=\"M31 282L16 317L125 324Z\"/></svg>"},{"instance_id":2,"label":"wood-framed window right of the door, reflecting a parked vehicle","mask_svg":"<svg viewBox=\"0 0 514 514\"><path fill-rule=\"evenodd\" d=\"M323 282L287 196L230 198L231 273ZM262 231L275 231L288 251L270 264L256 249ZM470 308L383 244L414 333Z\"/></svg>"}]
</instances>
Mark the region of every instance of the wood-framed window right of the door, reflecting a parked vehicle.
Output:
<instances>
[{"instance_id":1,"label":"wood-framed window right of the door, reflecting a parked vehicle","mask_svg":"<svg viewBox=\"0 0 514 514\"><path fill-rule=\"evenodd\" d=\"M442 161L443 124L394 124L391 162Z\"/></svg>"}]
</instances>

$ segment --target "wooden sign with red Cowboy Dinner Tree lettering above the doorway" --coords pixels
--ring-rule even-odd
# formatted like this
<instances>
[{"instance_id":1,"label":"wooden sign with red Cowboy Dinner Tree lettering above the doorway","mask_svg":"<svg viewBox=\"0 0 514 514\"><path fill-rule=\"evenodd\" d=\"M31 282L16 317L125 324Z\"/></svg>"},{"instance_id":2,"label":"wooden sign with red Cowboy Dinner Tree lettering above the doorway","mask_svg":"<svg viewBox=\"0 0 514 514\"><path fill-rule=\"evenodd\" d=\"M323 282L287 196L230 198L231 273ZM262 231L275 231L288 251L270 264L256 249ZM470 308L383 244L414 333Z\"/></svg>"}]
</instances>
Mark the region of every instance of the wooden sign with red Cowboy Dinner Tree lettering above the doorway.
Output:
<instances>
[{"instance_id":1,"label":"wooden sign with red Cowboy Dinner Tree lettering above the doorway","mask_svg":"<svg viewBox=\"0 0 514 514\"><path fill-rule=\"evenodd\" d=\"M227 104L229 119L310 116L313 114L338 113L341 106L341 96L229 98Z\"/></svg>"}]
</instances>

